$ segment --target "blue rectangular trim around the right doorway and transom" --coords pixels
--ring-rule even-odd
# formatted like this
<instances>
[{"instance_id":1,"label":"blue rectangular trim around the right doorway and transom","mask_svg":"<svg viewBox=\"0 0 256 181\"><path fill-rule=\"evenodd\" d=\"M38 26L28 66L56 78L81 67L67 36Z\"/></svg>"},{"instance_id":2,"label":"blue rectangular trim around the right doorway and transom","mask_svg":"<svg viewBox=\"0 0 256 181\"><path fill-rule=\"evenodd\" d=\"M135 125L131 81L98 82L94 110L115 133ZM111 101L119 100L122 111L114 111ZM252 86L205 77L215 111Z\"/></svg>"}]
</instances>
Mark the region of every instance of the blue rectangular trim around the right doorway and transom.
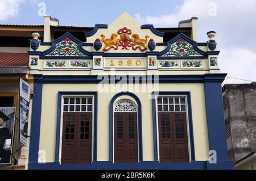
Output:
<instances>
[{"instance_id":1,"label":"blue rectangular trim around the right doorway and transom","mask_svg":"<svg viewBox=\"0 0 256 181\"><path fill-rule=\"evenodd\" d=\"M158 139L157 139L157 124L156 123L156 104L155 104L155 96L159 95L185 95L187 96L187 106L188 106L188 124L189 124L189 140L190 140L190 153L191 153L191 162L195 162L195 146L194 146L194 134L193 134L193 120L192 120L192 107L191 107L191 94L190 92L174 92L174 91L160 91L160 92L152 92L152 113L153 113L153 134L154 134L154 157L155 162L158 161Z\"/></svg>"}]
</instances>

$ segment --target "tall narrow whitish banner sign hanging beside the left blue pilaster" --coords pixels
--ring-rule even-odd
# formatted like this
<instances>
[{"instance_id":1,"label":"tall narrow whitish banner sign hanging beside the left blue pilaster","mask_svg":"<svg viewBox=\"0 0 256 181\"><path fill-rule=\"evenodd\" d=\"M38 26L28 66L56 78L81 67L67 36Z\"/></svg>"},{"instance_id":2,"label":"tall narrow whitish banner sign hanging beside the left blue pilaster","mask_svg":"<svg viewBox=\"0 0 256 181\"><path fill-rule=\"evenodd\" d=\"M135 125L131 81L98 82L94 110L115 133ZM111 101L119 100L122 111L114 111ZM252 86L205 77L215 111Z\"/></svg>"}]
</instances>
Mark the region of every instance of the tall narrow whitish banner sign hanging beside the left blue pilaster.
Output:
<instances>
[{"instance_id":1,"label":"tall narrow whitish banner sign hanging beside the left blue pilaster","mask_svg":"<svg viewBox=\"0 0 256 181\"><path fill-rule=\"evenodd\" d=\"M19 142L27 146L28 111L30 106L30 85L19 81Z\"/></svg>"}]
</instances>

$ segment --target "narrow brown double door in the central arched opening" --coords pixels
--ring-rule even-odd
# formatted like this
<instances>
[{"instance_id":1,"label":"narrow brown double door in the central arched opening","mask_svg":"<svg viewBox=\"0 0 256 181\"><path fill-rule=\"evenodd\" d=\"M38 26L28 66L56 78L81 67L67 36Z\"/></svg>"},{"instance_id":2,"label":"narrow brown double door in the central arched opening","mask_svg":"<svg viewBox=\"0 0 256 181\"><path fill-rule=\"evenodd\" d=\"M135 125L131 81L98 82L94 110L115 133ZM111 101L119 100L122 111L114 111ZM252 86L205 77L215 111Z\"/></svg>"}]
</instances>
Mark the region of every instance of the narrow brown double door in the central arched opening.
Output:
<instances>
[{"instance_id":1,"label":"narrow brown double door in the central arched opening","mask_svg":"<svg viewBox=\"0 0 256 181\"><path fill-rule=\"evenodd\" d=\"M114 162L138 162L137 112L114 113Z\"/></svg>"}]
</instances>

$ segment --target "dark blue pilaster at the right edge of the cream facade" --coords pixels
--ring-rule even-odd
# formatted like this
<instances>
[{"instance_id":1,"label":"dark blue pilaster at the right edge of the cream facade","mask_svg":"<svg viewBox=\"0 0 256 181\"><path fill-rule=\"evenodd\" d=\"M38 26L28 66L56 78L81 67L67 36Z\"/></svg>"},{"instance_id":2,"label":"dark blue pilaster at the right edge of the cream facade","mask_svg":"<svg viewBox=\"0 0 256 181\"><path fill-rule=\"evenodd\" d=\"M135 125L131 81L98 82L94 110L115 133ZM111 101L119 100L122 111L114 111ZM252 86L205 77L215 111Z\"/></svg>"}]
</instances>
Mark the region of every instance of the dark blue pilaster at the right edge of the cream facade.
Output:
<instances>
[{"instance_id":1,"label":"dark blue pilaster at the right edge of the cream facade","mask_svg":"<svg viewBox=\"0 0 256 181\"><path fill-rule=\"evenodd\" d=\"M217 163L228 162L228 146L221 89L221 83L225 77L226 74L205 74L204 83L209 149L216 150ZM216 164L208 163L207 166L208 169L214 169Z\"/></svg>"}]
</instances>

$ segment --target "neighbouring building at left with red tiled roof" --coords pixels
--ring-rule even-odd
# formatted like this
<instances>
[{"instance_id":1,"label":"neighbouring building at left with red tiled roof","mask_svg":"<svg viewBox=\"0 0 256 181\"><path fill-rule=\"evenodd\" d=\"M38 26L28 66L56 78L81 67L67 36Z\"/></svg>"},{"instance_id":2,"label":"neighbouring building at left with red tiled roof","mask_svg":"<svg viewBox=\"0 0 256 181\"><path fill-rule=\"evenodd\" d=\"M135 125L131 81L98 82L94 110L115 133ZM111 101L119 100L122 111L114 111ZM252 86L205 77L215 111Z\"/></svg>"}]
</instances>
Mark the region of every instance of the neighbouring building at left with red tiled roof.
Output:
<instances>
[{"instance_id":1,"label":"neighbouring building at left with red tiled roof","mask_svg":"<svg viewBox=\"0 0 256 181\"><path fill-rule=\"evenodd\" d=\"M19 142L19 79L33 85L33 78L27 74L33 30L43 36L43 26L0 25L0 112L15 108L15 115L8 115L9 120L0 125L0 169L26 169L28 161L28 147ZM11 150L3 150L6 128L11 135Z\"/></svg>"}]
</instances>

